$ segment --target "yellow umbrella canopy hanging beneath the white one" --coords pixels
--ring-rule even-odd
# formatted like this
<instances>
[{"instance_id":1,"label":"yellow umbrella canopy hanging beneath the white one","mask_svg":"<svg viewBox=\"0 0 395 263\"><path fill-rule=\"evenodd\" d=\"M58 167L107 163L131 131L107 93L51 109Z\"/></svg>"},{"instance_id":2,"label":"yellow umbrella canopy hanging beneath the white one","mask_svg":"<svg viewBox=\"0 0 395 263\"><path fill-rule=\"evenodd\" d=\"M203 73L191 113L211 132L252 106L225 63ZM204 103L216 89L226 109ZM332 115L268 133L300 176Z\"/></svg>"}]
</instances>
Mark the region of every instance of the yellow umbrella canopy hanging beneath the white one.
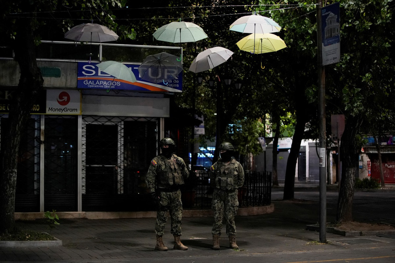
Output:
<instances>
[{"instance_id":1,"label":"yellow umbrella canopy hanging beneath the white one","mask_svg":"<svg viewBox=\"0 0 395 263\"><path fill-rule=\"evenodd\" d=\"M284 40L275 34L250 34L236 43L240 50L262 54L287 47Z\"/></svg>"}]
</instances>

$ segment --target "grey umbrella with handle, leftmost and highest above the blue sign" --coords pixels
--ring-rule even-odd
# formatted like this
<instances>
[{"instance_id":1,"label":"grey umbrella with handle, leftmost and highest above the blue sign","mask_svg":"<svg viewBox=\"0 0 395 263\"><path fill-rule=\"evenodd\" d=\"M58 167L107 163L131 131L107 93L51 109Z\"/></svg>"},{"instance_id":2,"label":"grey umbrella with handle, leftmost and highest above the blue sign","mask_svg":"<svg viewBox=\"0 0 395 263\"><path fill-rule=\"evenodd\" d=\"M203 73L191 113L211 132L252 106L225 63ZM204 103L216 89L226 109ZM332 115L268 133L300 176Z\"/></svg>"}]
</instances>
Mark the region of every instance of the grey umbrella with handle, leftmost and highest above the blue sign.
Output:
<instances>
[{"instance_id":1,"label":"grey umbrella with handle, leftmost and highest above the blue sign","mask_svg":"<svg viewBox=\"0 0 395 263\"><path fill-rule=\"evenodd\" d=\"M64 38L72 39L75 41L89 42L90 41L90 57L92 56L92 41L93 42L109 42L115 41L119 36L110 30L107 26L94 23L84 23L74 26L64 34Z\"/></svg>"}]
</instances>

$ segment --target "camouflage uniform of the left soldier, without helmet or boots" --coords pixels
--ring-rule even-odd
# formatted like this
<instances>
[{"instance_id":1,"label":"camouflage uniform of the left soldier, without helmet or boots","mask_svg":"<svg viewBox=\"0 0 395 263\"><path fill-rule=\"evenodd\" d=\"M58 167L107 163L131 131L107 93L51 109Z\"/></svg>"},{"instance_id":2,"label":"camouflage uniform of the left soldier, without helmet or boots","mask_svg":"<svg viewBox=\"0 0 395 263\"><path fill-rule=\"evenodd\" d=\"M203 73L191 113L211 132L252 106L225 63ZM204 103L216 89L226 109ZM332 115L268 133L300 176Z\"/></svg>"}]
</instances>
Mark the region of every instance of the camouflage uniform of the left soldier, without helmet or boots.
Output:
<instances>
[{"instance_id":1,"label":"camouflage uniform of the left soldier, without helmet or boots","mask_svg":"<svg viewBox=\"0 0 395 263\"><path fill-rule=\"evenodd\" d=\"M184 168L181 169L180 163ZM149 192L156 192L160 197L158 211L156 213L155 233L158 236L164 234L164 227L167 222L167 210L170 211L171 233L181 235L182 203L179 187L188 178L189 172L182 158L172 154L167 159L162 154L152 159L149 166L146 183Z\"/></svg>"}]
</instances>

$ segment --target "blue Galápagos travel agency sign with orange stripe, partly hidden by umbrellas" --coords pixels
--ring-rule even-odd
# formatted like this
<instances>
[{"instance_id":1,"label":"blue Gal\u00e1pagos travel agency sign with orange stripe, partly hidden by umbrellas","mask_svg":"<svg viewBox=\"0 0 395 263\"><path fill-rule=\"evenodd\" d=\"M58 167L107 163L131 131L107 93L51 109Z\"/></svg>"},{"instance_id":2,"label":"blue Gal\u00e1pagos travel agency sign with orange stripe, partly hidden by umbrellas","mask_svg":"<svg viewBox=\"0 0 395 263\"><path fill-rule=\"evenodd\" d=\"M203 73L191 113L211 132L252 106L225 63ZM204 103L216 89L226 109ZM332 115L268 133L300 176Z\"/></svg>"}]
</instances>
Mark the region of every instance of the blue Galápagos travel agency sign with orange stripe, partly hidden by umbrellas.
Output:
<instances>
[{"instance_id":1,"label":"blue Gal\u00e1pagos travel agency sign with orange stripe, partly hidden by umbrellas","mask_svg":"<svg viewBox=\"0 0 395 263\"><path fill-rule=\"evenodd\" d=\"M137 81L130 82L105 73L96 65L99 63L78 62L77 88L104 90L139 90L155 92L182 92L182 72L177 79L152 83L142 80L137 70L140 64L126 64L134 73Z\"/></svg>"}]
</instances>

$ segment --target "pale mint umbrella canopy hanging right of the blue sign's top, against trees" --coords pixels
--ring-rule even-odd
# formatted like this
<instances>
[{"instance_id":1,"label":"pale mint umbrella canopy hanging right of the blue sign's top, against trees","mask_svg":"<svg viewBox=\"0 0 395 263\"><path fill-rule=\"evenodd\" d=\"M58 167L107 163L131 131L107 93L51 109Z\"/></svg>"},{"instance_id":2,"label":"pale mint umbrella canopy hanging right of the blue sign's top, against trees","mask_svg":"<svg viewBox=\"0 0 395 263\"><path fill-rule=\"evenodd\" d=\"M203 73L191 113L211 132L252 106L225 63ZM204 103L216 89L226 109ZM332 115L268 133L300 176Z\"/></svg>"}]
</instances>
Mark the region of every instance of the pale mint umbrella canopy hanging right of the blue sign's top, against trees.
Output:
<instances>
[{"instance_id":1,"label":"pale mint umbrella canopy hanging right of the blue sign's top, against trees","mask_svg":"<svg viewBox=\"0 0 395 263\"><path fill-rule=\"evenodd\" d=\"M207 38L207 34L197 24L190 22L171 22L161 26L152 34L155 39L171 43L196 42Z\"/></svg>"}]
</instances>

